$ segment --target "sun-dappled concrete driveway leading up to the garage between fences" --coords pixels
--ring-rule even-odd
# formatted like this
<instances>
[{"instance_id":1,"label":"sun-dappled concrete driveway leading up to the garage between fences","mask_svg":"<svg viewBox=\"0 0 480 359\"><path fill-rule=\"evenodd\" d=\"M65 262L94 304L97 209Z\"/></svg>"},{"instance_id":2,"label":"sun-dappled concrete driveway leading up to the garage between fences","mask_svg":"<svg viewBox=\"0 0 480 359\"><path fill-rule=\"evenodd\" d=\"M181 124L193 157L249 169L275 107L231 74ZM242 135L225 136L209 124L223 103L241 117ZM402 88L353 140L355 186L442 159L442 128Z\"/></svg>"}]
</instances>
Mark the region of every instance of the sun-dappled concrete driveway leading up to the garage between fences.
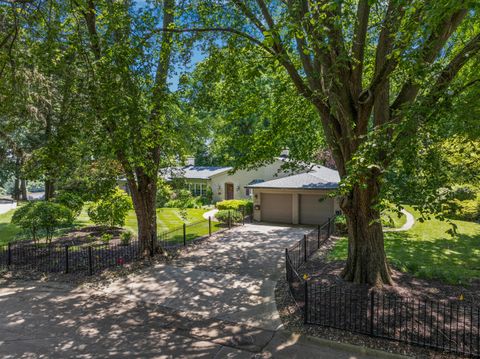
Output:
<instances>
[{"instance_id":1,"label":"sun-dappled concrete driveway leading up to the garage between fences","mask_svg":"<svg viewBox=\"0 0 480 359\"><path fill-rule=\"evenodd\" d=\"M307 229L245 225L190 252L119 280L105 294L266 330L281 326L274 290L286 246Z\"/></svg>"}]
</instances>

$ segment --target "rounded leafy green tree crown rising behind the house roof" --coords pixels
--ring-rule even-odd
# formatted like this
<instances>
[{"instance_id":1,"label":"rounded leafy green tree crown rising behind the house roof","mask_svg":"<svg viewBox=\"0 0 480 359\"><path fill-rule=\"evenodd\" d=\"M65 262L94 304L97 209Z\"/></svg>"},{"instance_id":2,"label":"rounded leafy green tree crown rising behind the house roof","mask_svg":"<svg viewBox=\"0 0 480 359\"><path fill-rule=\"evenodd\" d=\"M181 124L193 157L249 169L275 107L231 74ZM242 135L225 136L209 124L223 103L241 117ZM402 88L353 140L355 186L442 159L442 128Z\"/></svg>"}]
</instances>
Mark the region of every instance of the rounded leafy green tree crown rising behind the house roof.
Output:
<instances>
[{"instance_id":1,"label":"rounded leafy green tree crown rising behind the house roof","mask_svg":"<svg viewBox=\"0 0 480 359\"><path fill-rule=\"evenodd\" d=\"M292 161L285 165L298 165L325 147L313 105L252 49L212 49L184 76L179 92L186 111L210 130L199 164L249 168L288 148Z\"/></svg>"}]
</instances>

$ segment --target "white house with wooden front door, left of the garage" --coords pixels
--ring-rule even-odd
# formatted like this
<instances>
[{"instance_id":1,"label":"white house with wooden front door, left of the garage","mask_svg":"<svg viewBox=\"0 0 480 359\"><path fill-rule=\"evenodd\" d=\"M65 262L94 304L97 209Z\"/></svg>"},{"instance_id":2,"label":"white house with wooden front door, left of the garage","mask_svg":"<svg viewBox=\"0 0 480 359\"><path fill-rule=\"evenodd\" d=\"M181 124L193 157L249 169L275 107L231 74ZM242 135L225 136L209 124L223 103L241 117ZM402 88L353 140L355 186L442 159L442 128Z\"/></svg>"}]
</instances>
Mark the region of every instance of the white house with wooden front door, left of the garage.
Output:
<instances>
[{"instance_id":1,"label":"white house with wooden front door, left of the garage","mask_svg":"<svg viewBox=\"0 0 480 359\"><path fill-rule=\"evenodd\" d=\"M187 166L178 171L175 177L185 179L188 189L195 196L205 196L207 189L212 190L213 202L226 199L250 199L249 185L282 178L291 174L282 170L287 157L280 156L264 166L252 170L232 172L232 167L195 166L194 159L189 158ZM171 179L172 176L169 176Z\"/></svg>"}]
</instances>

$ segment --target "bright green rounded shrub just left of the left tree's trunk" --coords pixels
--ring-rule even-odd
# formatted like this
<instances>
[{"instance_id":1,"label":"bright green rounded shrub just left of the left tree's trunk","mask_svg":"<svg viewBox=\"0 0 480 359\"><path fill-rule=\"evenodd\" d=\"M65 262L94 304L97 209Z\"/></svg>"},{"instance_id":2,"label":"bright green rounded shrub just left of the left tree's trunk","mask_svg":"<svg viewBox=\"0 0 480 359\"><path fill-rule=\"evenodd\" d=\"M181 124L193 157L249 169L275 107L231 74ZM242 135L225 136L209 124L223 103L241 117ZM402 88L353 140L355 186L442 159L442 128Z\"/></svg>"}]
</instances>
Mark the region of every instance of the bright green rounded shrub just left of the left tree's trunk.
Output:
<instances>
[{"instance_id":1,"label":"bright green rounded shrub just left of the left tree's trunk","mask_svg":"<svg viewBox=\"0 0 480 359\"><path fill-rule=\"evenodd\" d=\"M128 211L132 208L132 199L117 188L107 197L91 204L88 208L88 216L97 225L122 227Z\"/></svg>"}]
</instances>

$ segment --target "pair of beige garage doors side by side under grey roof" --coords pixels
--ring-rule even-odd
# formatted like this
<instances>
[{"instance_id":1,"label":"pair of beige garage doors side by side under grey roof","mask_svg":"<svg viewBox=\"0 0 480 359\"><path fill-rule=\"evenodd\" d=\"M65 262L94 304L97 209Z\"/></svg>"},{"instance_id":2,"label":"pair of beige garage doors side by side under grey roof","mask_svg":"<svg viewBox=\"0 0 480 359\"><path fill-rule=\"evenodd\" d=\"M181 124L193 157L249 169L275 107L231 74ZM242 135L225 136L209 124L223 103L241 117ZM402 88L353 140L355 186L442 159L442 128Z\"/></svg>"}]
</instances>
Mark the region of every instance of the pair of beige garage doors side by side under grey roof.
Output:
<instances>
[{"instance_id":1,"label":"pair of beige garage doors side by side under grey roof","mask_svg":"<svg viewBox=\"0 0 480 359\"><path fill-rule=\"evenodd\" d=\"M293 202L292 194L262 193L262 221L273 223L293 223L293 206L298 205L300 224L322 224L334 212L333 199L325 195L301 194L298 204Z\"/></svg>"}]
</instances>

